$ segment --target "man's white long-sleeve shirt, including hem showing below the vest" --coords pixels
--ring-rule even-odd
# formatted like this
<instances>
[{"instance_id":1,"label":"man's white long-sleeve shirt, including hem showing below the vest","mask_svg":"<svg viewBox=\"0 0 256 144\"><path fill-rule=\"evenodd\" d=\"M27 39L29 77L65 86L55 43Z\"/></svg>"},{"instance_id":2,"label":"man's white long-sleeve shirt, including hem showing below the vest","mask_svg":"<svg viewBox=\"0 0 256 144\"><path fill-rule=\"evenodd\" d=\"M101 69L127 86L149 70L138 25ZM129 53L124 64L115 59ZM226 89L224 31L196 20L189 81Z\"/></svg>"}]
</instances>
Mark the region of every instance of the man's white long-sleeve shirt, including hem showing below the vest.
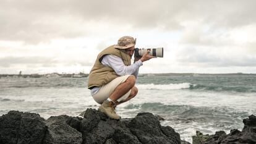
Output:
<instances>
[{"instance_id":1,"label":"man's white long-sleeve shirt, including hem showing below the vest","mask_svg":"<svg viewBox=\"0 0 256 144\"><path fill-rule=\"evenodd\" d=\"M139 67L143 65L142 61L139 60L130 66L125 66L122 59L114 55L106 55L103 57L101 64L111 67L117 75L134 75L136 78L139 74ZM100 87L94 87L91 90L91 95L95 95L99 89Z\"/></svg>"}]
</instances>

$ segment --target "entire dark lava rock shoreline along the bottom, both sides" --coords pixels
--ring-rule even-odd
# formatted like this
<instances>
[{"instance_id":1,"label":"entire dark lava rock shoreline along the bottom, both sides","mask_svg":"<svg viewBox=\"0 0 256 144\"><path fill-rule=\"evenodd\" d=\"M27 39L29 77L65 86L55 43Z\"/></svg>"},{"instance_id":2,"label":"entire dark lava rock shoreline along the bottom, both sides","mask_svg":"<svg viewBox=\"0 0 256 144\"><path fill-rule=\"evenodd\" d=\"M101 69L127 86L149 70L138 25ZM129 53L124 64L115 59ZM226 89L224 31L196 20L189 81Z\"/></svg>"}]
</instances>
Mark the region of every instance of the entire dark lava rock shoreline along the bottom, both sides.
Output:
<instances>
[{"instance_id":1,"label":"entire dark lava rock shoreline along the bottom, both sides","mask_svg":"<svg viewBox=\"0 0 256 144\"><path fill-rule=\"evenodd\" d=\"M52 116L45 120L39 114L10 111L0 117L0 143L188 143L169 126L160 124L161 117L142 112L130 119L109 119L96 109L87 109L83 117ZM256 143L256 117L244 119L244 129L228 135L197 132L193 143Z\"/></svg>"}]
</instances>

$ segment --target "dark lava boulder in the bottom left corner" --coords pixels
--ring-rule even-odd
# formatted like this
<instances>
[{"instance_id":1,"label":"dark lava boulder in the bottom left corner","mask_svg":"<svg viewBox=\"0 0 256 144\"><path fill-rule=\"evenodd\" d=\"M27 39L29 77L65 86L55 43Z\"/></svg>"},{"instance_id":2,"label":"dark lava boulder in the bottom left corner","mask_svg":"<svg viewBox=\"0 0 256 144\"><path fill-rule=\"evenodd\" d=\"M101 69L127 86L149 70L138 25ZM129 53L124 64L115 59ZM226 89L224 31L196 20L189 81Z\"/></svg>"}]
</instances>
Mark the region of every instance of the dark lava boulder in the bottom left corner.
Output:
<instances>
[{"instance_id":1,"label":"dark lava boulder in the bottom left corner","mask_svg":"<svg viewBox=\"0 0 256 144\"><path fill-rule=\"evenodd\" d=\"M46 129L39 114L10 111L0 117L0 143L43 143Z\"/></svg>"}]
</instances>

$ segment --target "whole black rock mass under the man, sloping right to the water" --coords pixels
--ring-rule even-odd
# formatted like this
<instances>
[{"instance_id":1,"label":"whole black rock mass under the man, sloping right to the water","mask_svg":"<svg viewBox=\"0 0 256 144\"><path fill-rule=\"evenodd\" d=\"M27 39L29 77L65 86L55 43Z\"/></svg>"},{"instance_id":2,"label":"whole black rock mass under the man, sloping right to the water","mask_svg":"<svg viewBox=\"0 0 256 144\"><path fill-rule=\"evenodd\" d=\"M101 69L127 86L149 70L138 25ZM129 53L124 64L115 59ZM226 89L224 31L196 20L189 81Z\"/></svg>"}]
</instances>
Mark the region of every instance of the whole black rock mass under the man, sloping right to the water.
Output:
<instances>
[{"instance_id":1,"label":"whole black rock mass under the man, sloping right to the water","mask_svg":"<svg viewBox=\"0 0 256 144\"><path fill-rule=\"evenodd\" d=\"M181 143L179 133L162 127L157 117L139 113L133 119L109 119L96 109L87 109L81 121L85 143Z\"/></svg>"}]
</instances>

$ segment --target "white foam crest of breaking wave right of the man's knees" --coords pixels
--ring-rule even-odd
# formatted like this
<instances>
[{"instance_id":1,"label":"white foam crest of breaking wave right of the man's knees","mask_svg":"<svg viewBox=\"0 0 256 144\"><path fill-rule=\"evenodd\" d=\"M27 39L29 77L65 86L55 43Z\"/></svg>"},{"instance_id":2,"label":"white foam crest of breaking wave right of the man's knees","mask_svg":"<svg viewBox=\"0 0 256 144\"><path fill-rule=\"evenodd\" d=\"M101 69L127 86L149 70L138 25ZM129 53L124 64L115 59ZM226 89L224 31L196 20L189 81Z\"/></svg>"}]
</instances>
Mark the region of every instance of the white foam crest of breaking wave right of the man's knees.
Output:
<instances>
[{"instance_id":1,"label":"white foam crest of breaking wave right of the man's knees","mask_svg":"<svg viewBox=\"0 0 256 144\"><path fill-rule=\"evenodd\" d=\"M139 84L137 85L137 87L143 90L180 90L184 88L189 88L190 85L190 83L169 83L167 85L155 85L151 83L146 85Z\"/></svg>"}]
</instances>

